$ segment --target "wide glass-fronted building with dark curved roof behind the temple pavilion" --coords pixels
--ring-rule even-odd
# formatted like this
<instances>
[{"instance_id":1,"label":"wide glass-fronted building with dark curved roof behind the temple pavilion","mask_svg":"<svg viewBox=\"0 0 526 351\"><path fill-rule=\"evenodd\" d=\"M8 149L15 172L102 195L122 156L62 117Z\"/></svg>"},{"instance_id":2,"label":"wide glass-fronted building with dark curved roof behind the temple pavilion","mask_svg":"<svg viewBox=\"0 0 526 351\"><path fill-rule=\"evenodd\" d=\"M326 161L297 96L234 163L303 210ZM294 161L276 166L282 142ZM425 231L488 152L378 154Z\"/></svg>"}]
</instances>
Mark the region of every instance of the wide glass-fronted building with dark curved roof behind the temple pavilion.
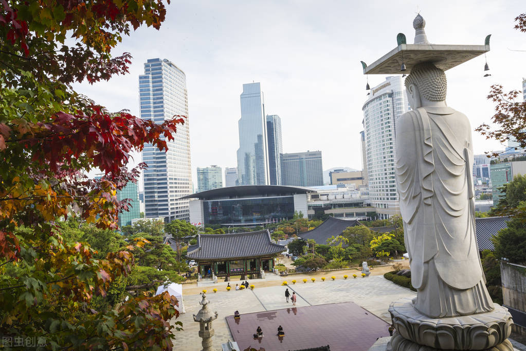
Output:
<instances>
[{"instance_id":1,"label":"wide glass-fronted building with dark curved roof behind the temple pavilion","mask_svg":"<svg viewBox=\"0 0 526 351\"><path fill-rule=\"evenodd\" d=\"M239 185L207 190L183 198L190 201L190 222L224 226L256 226L290 219L294 212L307 217L307 194L299 186Z\"/></svg>"}]
</instances>

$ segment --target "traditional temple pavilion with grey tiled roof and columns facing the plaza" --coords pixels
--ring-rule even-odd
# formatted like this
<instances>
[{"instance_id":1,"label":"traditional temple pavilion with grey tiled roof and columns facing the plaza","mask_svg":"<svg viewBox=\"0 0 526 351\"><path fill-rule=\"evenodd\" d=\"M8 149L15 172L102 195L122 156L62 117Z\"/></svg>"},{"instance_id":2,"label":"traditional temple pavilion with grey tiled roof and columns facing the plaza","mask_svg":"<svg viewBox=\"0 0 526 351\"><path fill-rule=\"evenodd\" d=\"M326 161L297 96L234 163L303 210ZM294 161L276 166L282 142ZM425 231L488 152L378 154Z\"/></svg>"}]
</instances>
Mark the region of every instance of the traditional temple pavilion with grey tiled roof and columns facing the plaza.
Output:
<instances>
[{"instance_id":1,"label":"traditional temple pavilion with grey tiled roof and columns facing the plaza","mask_svg":"<svg viewBox=\"0 0 526 351\"><path fill-rule=\"evenodd\" d=\"M272 243L268 230L235 234L199 234L197 244L188 247L188 259L194 259L201 277L261 277L261 271L274 269L274 257L287 248ZM210 269L210 274L208 274Z\"/></svg>"}]
</instances>

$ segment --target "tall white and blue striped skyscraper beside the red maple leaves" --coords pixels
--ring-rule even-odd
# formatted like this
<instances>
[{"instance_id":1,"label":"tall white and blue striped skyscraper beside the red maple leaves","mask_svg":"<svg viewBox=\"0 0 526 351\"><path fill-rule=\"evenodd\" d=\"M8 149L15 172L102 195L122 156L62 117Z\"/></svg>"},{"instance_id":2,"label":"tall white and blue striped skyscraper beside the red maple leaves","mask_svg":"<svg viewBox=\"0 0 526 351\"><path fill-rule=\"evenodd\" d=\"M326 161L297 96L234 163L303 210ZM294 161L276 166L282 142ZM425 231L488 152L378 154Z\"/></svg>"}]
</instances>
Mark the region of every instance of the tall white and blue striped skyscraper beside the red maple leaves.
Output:
<instances>
[{"instance_id":1,"label":"tall white and blue striped skyscraper beside the red maple leaves","mask_svg":"<svg viewBox=\"0 0 526 351\"><path fill-rule=\"evenodd\" d=\"M139 76L140 117L163 123L174 115L188 117L186 76L167 59L152 58L144 64L144 75ZM143 162L144 202L147 218L189 220L188 199L192 178L190 167L189 118L177 126L175 140L167 142L168 151L159 151L145 144Z\"/></svg>"}]
</instances>

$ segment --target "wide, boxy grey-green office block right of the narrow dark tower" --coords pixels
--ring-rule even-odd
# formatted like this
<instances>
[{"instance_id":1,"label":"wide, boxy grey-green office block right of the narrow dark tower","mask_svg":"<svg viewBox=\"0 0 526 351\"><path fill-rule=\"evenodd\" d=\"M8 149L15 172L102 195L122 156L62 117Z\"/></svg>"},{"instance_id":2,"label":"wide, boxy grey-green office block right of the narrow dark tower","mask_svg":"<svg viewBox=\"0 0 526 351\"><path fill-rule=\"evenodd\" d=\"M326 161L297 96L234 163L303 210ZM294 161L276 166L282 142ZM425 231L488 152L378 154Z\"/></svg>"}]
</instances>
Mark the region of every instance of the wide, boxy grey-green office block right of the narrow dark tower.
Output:
<instances>
[{"instance_id":1,"label":"wide, boxy grey-green office block right of the narrow dark tower","mask_svg":"<svg viewBox=\"0 0 526 351\"><path fill-rule=\"evenodd\" d=\"M281 185L321 186L321 151L281 155Z\"/></svg>"}]
</instances>

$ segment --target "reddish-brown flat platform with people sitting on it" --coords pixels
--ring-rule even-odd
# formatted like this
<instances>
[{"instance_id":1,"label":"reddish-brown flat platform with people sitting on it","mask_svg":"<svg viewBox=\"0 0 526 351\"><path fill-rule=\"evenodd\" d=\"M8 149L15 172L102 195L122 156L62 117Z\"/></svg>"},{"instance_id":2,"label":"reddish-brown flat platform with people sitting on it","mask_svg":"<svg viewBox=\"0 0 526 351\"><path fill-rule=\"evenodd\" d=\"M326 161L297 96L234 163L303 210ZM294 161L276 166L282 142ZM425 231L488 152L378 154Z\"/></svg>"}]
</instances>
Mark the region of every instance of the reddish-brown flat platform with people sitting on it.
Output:
<instances>
[{"instance_id":1,"label":"reddish-brown flat platform with people sitting on it","mask_svg":"<svg viewBox=\"0 0 526 351\"><path fill-rule=\"evenodd\" d=\"M331 351L360 351L368 350L378 337L389 336L389 324L352 302L276 309L226 319L240 350L251 346L287 351L329 345ZM283 338L277 336L279 325L285 332ZM265 336L254 339L258 326Z\"/></svg>"}]
</instances>

